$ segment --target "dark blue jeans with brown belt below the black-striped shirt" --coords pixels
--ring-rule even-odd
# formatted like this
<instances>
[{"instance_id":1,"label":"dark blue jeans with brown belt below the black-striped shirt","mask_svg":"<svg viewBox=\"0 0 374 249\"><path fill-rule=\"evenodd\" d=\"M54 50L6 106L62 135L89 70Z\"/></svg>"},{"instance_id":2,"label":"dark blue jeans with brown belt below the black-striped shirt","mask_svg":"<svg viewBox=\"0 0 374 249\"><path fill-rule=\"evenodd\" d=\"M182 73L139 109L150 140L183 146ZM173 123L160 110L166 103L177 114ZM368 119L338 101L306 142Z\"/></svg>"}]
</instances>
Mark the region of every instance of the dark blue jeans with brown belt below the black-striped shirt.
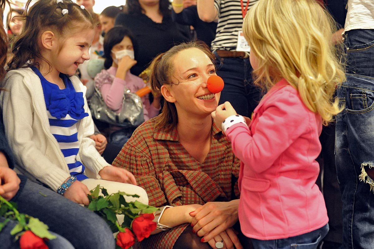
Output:
<instances>
[{"instance_id":1,"label":"dark blue jeans with brown belt below the black-striped shirt","mask_svg":"<svg viewBox=\"0 0 374 249\"><path fill-rule=\"evenodd\" d=\"M229 101L238 114L250 118L262 94L261 90L253 85L249 58L221 58L216 52L214 55L217 59L217 75L225 83L219 104Z\"/></svg>"}]
</instances>

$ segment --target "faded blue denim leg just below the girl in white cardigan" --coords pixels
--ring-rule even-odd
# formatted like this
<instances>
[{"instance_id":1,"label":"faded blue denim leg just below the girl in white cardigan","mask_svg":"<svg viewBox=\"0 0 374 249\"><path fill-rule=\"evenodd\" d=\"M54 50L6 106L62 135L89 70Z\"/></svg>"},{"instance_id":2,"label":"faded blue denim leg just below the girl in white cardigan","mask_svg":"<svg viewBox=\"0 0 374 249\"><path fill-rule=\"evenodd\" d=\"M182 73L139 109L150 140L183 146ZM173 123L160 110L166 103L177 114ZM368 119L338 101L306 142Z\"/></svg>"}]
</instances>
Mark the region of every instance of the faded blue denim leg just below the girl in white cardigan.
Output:
<instances>
[{"instance_id":1,"label":"faded blue denim leg just below the girl in white cardigan","mask_svg":"<svg viewBox=\"0 0 374 249\"><path fill-rule=\"evenodd\" d=\"M39 218L74 248L115 248L109 226L94 212L30 180L20 191L12 199L18 211Z\"/></svg>"}]
</instances>

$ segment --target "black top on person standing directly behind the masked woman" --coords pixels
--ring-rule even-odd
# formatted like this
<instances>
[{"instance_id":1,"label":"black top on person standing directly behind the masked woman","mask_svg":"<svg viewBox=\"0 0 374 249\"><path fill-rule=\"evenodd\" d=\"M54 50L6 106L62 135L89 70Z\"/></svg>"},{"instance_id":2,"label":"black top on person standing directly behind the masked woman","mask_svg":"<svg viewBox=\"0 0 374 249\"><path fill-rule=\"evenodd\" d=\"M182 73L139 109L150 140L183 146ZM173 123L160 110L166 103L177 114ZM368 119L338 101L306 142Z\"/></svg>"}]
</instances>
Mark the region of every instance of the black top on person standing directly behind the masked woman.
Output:
<instances>
[{"instance_id":1,"label":"black top on person standing directly behind the masked woman","mask_svg":"<svg viewBox=\"0 0 374 249\"><path fill-rule=\"evenodd\" d=\"M153 22L144 14L129 15L120 13L116 25L128 28L137 43L135 60L137 64L131 73L139 75L159 53L166 52L172 46L190 40L189 27L172 21L171 16L164 16L162 23Z\"/></svg>"}]
</instances>

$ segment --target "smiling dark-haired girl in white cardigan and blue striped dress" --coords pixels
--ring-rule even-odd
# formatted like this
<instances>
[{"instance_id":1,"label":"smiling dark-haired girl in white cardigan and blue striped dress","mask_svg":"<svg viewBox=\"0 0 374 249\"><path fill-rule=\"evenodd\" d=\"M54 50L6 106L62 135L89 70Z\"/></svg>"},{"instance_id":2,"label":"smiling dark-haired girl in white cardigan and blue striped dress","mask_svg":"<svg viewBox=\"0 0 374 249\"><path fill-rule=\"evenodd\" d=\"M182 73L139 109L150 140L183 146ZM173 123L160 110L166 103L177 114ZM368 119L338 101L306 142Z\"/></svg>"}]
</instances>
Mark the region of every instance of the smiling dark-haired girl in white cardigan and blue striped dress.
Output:
<instances>
[{"instance_id":1,"label":"smiling dark-haired girl in white cardigan and blue striped dress","mask_svg":"<svg viewBox=\"0 0 374 249\"><path fill-rule=\"evenodd\" d=\"M98 184L108 192L141 196L134 175L108 164L95 149L93 121L86 88L74 75L89 59L94 21L83 6L70 0L26 4L22 34L0 100L6 136L24 172L77 203ZM101 180L99 180L101 179ZM132 201L126 196L126 200Z\"/></svg>"}]
</instances>

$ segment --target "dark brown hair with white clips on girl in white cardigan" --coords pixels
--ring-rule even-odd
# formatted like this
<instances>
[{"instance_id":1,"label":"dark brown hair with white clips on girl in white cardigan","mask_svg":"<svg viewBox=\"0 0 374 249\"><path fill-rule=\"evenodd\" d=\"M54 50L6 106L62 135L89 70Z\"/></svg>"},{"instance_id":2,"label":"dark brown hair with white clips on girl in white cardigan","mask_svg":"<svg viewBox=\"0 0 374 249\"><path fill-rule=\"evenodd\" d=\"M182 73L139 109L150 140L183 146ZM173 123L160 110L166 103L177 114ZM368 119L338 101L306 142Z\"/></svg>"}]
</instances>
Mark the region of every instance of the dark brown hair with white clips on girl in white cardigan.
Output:
<instances>
[{"instance_id":1,"label":"dark brown hair with white clips on girl in white cardigan","mask_svg":"<svg viewBox=\"0 0 374 249\"><path fill-rule=\"evenodd\" d=\"M9 70L37 65L36 59L45 60L50 65L43 58L38 45L44 31L50 30L64 40L82 29L93 29L96 26L91 14L71 0L63 0L62 3L39 0L30 6L32 1L28 0L25 6L24 13L27 14L23 16L25 22L22 32L12 47L14 56L8 63ZM67 9L68 13L63 15L62 9Z\"/></svg>"}]
</instances>

